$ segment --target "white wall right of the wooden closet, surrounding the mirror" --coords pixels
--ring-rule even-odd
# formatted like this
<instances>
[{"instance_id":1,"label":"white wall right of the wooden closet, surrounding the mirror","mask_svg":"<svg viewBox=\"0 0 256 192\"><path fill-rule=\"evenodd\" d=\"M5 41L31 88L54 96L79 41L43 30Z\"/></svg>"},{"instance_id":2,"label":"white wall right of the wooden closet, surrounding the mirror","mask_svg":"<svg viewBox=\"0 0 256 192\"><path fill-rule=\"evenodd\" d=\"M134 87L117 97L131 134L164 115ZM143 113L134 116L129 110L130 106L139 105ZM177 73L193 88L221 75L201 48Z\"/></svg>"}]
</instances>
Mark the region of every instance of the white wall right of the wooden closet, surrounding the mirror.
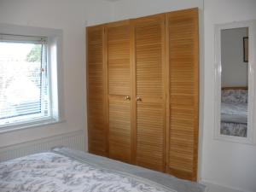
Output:
<instances>
[{"instance_id":1,"label":"white wall right of the wooden closet, surrounding the mirror","mask_svg":"<svg viewBox=\"0 0 256 192\"><path fill-rule=\"evenodd\" d=\"M256 191L256 146L213 139L214 25L256 19L255 0L205 0L205 79L201 177L241 191ZM217 191L218 192L218 191Z\"/></svg>"}]
</instances>

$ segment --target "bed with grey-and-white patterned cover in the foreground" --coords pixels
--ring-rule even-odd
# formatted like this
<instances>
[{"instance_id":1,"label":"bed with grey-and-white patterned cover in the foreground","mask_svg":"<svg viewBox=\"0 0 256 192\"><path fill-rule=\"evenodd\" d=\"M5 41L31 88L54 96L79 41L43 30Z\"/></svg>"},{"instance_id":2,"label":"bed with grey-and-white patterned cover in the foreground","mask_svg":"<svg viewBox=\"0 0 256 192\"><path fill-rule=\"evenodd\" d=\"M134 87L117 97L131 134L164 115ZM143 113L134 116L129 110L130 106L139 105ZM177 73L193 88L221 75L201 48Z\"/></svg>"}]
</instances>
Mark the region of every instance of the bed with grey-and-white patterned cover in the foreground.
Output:
<instances>
[{"instance_id":1,"label":"bed with grey-and-white patterned cover in the foreground","mask_svg":"<svg viewBox=\"0 0 256 192\"><path fill-rule=\"evenodd\" d=\"M0 163L1 192L204 192L206 187L69 148Z\"/></svg>"}]
</instances>

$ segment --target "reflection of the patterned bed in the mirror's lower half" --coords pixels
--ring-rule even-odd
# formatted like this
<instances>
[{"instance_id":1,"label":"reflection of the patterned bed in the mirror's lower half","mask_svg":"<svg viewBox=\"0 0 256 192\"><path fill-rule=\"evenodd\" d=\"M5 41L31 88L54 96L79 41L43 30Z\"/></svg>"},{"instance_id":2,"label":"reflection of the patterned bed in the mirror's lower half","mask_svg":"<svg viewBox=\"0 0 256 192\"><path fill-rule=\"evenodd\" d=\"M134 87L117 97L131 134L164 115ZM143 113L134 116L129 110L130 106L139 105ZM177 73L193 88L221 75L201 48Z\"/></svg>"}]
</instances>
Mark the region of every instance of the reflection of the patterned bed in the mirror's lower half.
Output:
<instances>
[{"instance_id":1,"label":"reflection of the patterned bed in the mirror's lower half","mask_svg":"<svg viewBox=\"0 0 256 192\"><path fill-rule=\"evenodd\" d=\"M247 137L247 87L221 90L221 134Z\"/></svg>"}]
</instances>

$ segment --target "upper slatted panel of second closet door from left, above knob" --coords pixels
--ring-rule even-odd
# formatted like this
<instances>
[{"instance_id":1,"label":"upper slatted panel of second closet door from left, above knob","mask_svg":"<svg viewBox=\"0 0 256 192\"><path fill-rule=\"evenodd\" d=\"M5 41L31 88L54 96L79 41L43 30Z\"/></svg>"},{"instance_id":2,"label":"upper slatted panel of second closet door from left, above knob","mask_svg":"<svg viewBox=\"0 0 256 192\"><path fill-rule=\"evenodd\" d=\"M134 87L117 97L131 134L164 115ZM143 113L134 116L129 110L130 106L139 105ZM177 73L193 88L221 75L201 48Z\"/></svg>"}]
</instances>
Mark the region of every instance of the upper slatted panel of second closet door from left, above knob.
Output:
<instances>
[{"instance_id":1,"label":"upper slatted panel of second closet door from left, above knob","mask_svg":"<svg viewBox=\"0 0 256 192\"><path fill-rule=\"evenodd\" d=\"M108 26L108 93L130 96L130 28Z\"/></svg>"}]
</instances>

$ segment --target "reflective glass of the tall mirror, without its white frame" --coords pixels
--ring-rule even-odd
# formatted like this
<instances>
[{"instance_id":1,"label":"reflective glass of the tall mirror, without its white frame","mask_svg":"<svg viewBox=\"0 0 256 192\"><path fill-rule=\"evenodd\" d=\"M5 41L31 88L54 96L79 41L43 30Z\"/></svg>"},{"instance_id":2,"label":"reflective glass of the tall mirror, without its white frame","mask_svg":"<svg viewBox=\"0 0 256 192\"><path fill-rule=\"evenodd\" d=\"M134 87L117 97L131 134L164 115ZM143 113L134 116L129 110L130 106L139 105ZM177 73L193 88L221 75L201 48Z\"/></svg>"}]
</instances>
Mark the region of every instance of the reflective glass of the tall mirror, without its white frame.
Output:
<instances>
[{"instance_id":1,"label":"reflective glass of the tall mirror, without its white frame","mask_svg":"<svg viewBox=\"0 0 256 192\"><path fill-rule=\"evenodd\" d=\"M248 27L221 30L220 134L247 137ZM248 50L248 49L247 49Z\"/></svg>"}]
</instances>

